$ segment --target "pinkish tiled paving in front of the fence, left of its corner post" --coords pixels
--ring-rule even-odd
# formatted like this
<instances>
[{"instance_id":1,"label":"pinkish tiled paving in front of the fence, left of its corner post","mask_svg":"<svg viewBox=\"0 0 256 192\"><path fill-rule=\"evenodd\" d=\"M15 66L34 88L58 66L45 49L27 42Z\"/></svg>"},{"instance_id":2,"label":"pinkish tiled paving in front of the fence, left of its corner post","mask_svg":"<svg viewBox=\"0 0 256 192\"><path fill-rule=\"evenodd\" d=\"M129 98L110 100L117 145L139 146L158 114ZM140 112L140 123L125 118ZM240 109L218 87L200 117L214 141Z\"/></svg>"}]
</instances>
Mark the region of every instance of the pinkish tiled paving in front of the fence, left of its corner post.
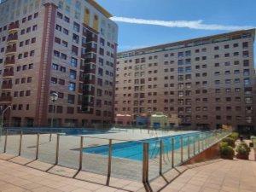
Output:
<instances>
[{"instance_id":1,"label":"pinkish tiled paving in front of the fence, left of its corner post","mask_svg":"<svg viewBox=\"0 0 256 192\"><path fill-rule=\"evenodd\" d=\"M121 192L124 190L87 183L72 178L56 176L26 166L0 160L1 192Z\"/></svg>"}]
</instances>

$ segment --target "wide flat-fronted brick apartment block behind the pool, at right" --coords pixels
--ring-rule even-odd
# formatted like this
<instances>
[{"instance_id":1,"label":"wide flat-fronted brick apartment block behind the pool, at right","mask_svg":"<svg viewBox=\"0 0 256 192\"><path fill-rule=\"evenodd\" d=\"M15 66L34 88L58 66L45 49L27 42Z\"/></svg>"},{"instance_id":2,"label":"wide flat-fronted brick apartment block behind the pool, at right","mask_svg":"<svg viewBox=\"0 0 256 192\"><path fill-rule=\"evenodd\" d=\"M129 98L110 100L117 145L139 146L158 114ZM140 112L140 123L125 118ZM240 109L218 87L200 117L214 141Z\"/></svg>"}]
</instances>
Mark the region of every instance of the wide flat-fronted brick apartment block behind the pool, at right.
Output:
<instances>
[{"instance_id":1,"label":"wide flat-fronted brick apartment block behind the pool, at right","mask_svg":"<svg viewBox=\"0 0 256 192\"><path fill-rule=\"evenodd\" d=\"M135 119L163 112L193 128L256 129L254 37L251 29L119 53L115 113Z\"/></svg>"}]
</instances>

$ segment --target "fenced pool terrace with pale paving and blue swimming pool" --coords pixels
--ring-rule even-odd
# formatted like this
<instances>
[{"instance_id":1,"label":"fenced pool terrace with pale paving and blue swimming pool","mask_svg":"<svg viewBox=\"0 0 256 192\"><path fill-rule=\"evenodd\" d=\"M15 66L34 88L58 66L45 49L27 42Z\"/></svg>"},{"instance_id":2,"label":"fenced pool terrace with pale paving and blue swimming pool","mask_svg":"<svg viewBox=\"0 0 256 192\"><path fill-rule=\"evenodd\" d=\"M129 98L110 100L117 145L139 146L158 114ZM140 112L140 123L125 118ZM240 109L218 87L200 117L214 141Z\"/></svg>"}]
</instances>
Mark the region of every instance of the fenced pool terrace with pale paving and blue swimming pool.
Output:
<instances>
[{"instance_id":1,"label":"fenced pool terrace with pale paving and blue swimming pool","mask_svg":"<svg viewBox=\"0 0 256 192\"><path fill-rule=\"evenodd\" d=\"M110 181L125 180L148 189L161 175L229 134L119 128L8 129L1 138L0 151L7 155L4 159L44 172L109 186L117 184Z\"/></svg>"}]
</instances>

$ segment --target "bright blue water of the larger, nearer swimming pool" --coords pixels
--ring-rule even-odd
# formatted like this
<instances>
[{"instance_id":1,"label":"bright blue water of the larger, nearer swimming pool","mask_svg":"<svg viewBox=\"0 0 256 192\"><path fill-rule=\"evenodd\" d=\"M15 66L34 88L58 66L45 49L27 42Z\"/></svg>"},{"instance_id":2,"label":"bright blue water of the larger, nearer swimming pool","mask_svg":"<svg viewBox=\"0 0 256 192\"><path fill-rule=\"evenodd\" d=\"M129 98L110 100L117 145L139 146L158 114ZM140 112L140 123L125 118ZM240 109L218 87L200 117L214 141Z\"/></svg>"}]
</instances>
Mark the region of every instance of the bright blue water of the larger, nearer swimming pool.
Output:
<instances>
[{"instance_id":1,"label":"bright blue water of the larger, nearer swimming pool","mask_svg":"<svg viewBox=\"0 0 256 192\"><path fill-rule=\"evenodd\" d=\"M189 136L189 141L188 141ZM181 146L181 135L174 137L174 149ZM164 153L172 150L171 137L152 138L142 141L132 141L125 143L115 143L112 145L112 155L116 158L125 158L130 160L143 160L143 142L149 143L149 158L155 158L160 152L160 139L164 144ZM198 140L197 133L183 134L183 146L187 146L188 142L192 142L193 139ZM108 145L102 145L97 147L84 148L84 153L89 154L102 154L108 155Z\"/></svg>"}]
</instances>

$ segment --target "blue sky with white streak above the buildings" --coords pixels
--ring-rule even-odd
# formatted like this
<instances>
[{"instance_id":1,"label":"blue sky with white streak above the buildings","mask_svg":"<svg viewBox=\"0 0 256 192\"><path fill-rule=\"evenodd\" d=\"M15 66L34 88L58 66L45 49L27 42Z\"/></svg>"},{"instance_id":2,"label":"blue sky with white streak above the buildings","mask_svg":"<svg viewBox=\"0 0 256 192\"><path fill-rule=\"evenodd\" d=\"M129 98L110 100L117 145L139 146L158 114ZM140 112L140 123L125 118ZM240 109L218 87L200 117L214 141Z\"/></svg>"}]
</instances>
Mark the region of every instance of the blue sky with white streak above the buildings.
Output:
<instances>
[{"instance_id":1,"label":"blue sky with white streak above the buildings","mask_svg":"<svg viewBox=\"0 0 256 192\"><path fill-rule=\"evenodd\" d=\"M256 27L256 0L96 2L119 25L119 51Z\"/></svg>"}]
</instances>

